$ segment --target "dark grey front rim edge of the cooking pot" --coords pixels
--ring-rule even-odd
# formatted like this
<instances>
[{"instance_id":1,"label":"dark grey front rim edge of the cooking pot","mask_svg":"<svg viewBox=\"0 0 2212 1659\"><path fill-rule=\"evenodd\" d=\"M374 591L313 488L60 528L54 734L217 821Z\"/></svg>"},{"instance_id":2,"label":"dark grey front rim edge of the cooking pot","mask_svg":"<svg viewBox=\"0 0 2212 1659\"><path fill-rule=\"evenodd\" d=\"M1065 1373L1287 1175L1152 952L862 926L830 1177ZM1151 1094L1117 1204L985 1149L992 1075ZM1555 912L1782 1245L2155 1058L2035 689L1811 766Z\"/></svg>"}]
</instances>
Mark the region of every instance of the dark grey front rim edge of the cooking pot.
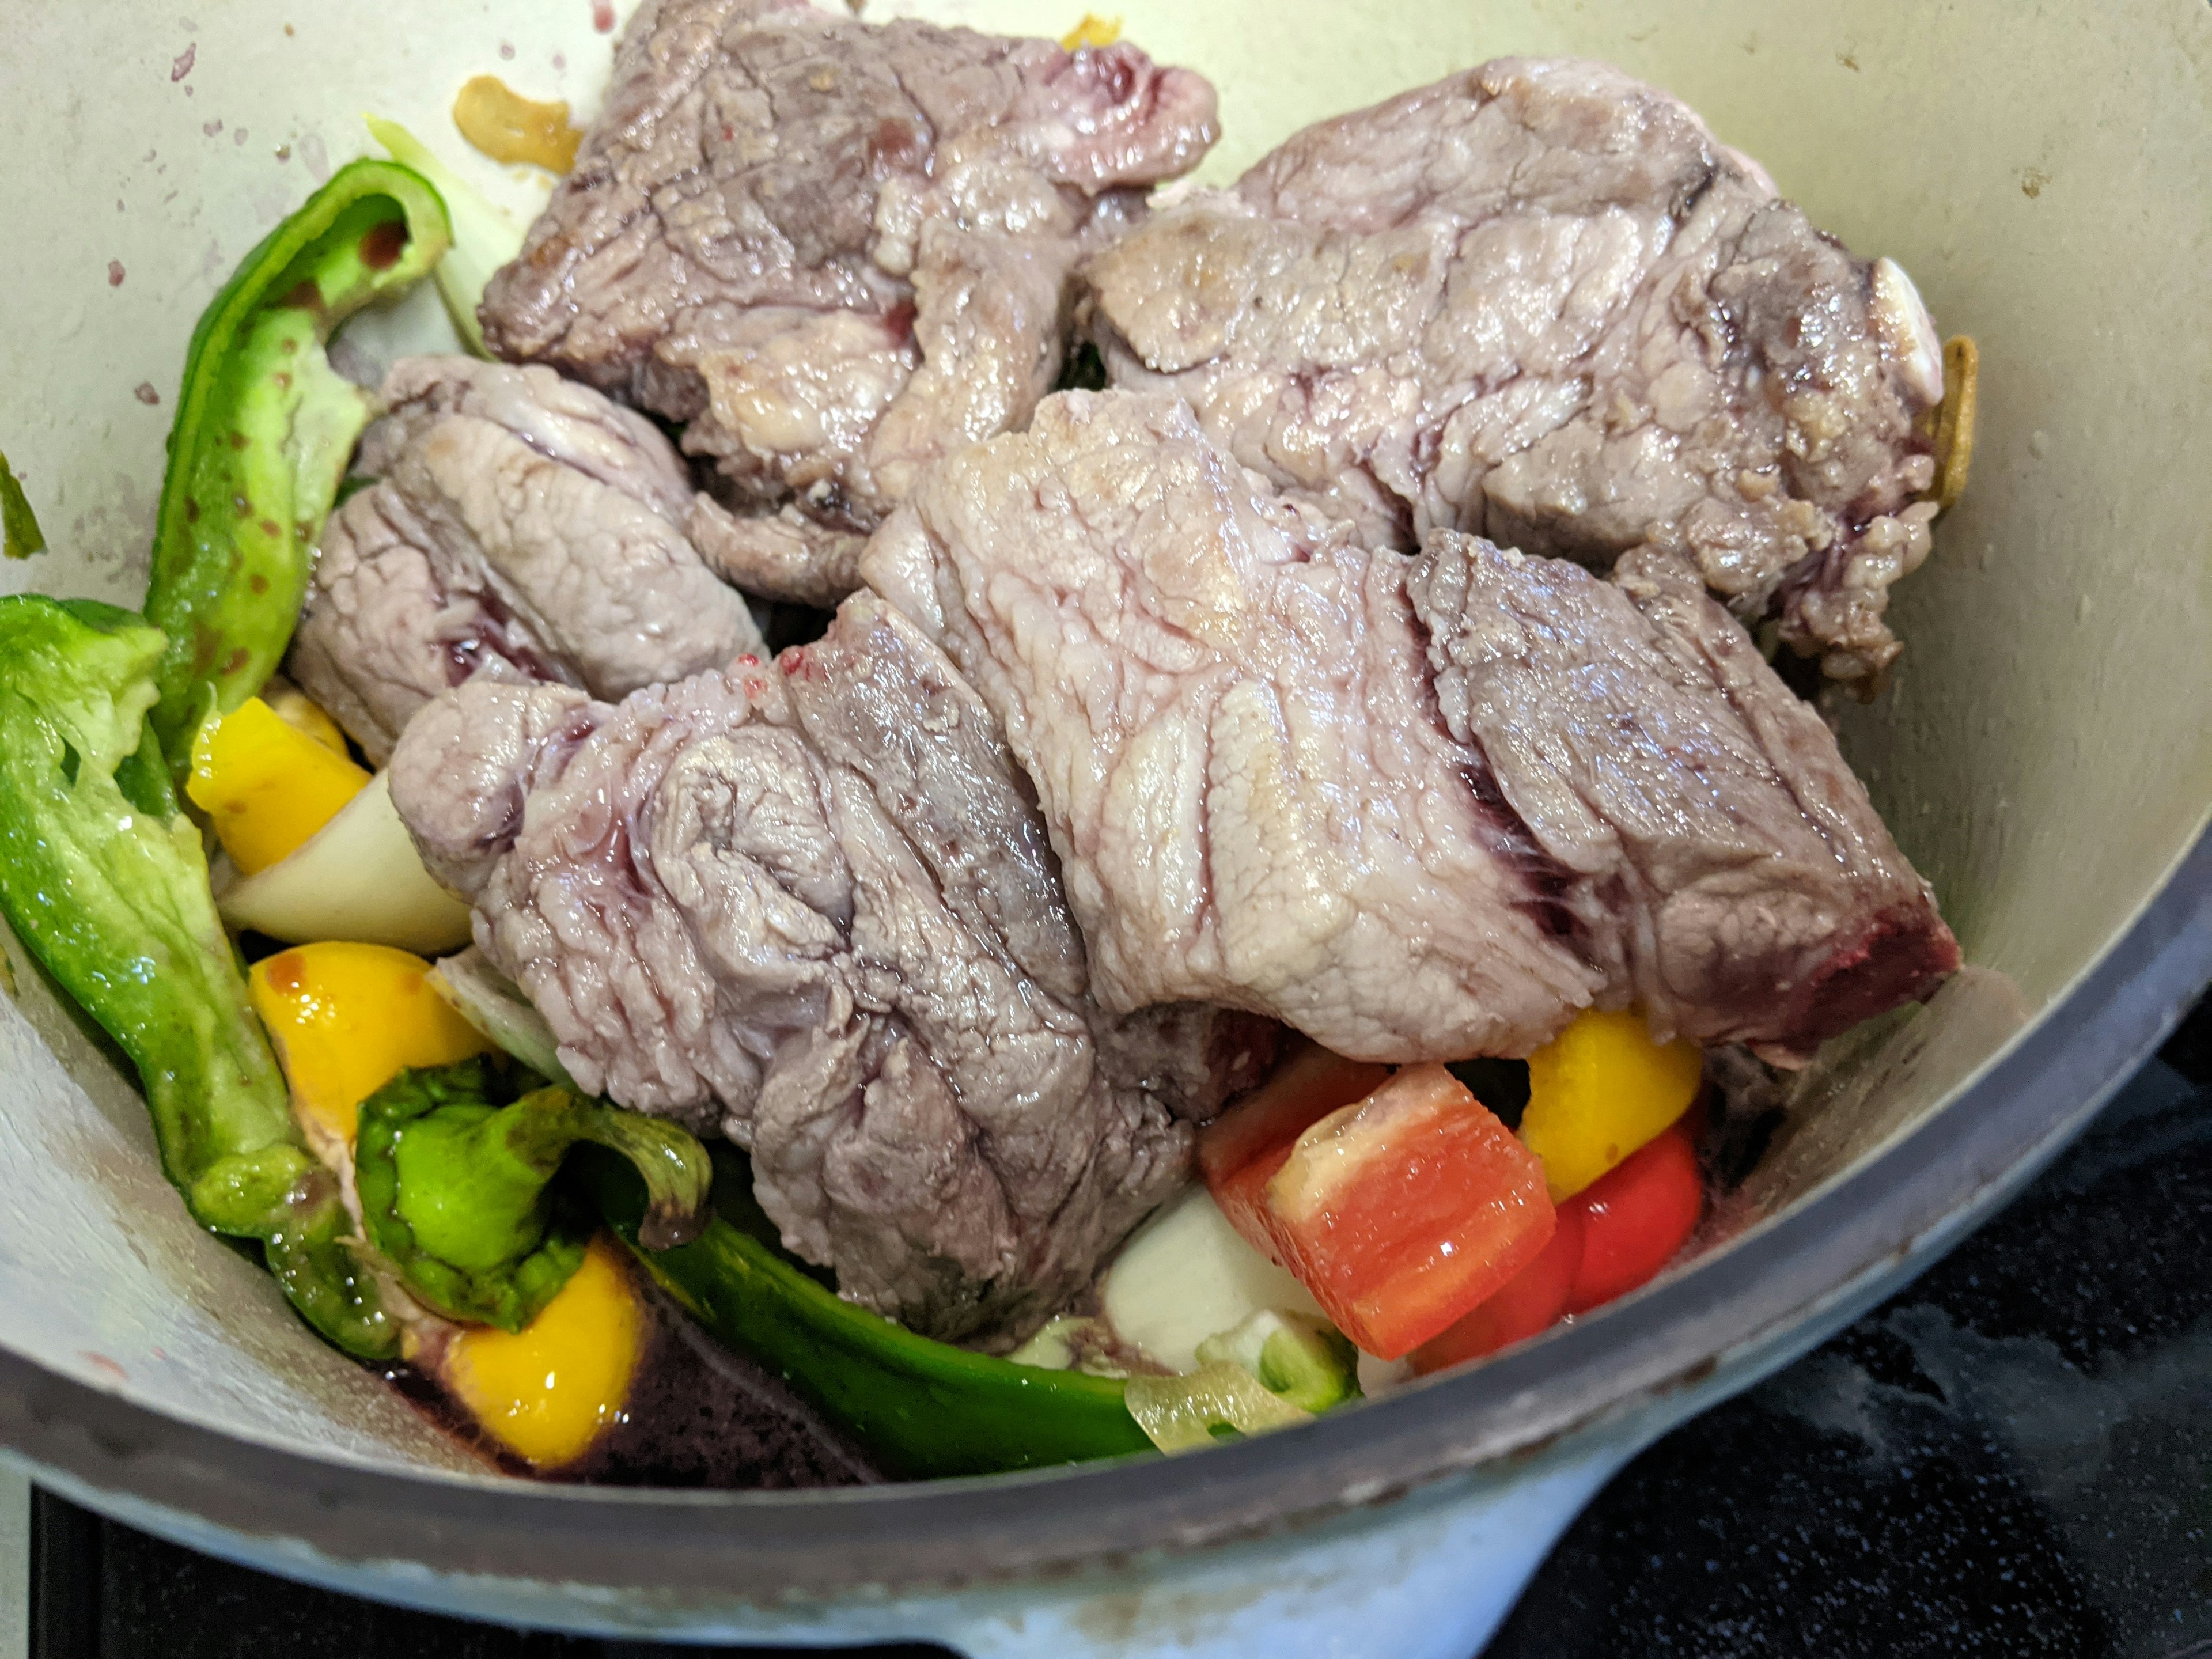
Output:
<instances>
[{"instance_id":1,"label":"dark grey front rim edge of the cooking pot","mask_svg":"<svg viewBox=\"0 0 2212 1659\"><path fill-rule=\"evenodd\" d=\"M1692 1270L1467 1374L1312 1427L1020 1475L807 1493L495 1482L316 1458L135 1405L0 1345L0 1447L88 1493L325 1562L688 1599L951 1588L1312 1526L1756 1376L1854 1287L1929 1265L2095 1115L2212 980L2212 832L1949 1106ZM1743 1363L1750 1360L1750 1363ZM296 1553L296 1551L292 1551Z\"/></svg>"}]
</instances>

